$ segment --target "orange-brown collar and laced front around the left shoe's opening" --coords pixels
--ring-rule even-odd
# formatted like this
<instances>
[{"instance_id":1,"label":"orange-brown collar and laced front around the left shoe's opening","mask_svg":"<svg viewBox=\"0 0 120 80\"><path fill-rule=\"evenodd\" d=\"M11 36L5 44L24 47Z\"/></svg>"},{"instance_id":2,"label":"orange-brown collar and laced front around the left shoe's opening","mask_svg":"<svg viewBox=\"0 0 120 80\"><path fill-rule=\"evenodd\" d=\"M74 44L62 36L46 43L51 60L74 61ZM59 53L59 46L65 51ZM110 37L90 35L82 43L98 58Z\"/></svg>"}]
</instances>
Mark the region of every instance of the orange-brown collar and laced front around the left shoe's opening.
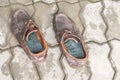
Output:
<instances>
[{"instance_id":1,"label":"orange-brown collar and laced front around the left shoe's opening","mask_svg":"<svg viewBox=\"0 0 120 80\"><path fill-rule=\"evenodd\" d=\"M26 40L28 40L28 37L29 35L32 33L32 32L36 32L38 34L38 36L40 37L40 40L41 40L41 43L43 43L43 47L44 47L44 50L42 52L40 52L40 54L33 54L27 44L26 44ZM42 57L44 55L44 53L47 52L47 43L46 41L44 40L44 37L42 35L42 32L36 27L36 24L32 21L32 20L29 20L28 23L27 23L27 28L24 32L24 35L23 35L23 38L22 38L22 43L24 43L24 45L26 46L26 49L27 51L30 53L31 56L33 57Z\"/></svg>"}]
</instances>

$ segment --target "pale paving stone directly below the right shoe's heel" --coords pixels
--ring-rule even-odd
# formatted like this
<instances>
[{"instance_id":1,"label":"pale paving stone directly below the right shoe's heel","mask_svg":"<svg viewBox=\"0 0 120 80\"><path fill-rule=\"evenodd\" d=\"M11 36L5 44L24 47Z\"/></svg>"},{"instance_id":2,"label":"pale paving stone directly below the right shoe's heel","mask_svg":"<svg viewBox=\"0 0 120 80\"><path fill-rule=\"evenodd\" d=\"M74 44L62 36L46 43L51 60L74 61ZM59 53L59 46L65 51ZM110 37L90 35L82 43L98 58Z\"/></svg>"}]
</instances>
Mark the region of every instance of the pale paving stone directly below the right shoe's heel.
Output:
<instances>
[{"instance_id":1,"label":"pale paving stone directly below the right shoe's heel","mask_svg":"<svg viewBox=\"0 0 120 80\"><path fill-rule=\"evenodd\" d=\"M90 77L90 70L87 66L82 68L71 68L67 63L65 57L61 58L61 63L64 65L64 72L66 74L65 80L88 80Z\"/></svg>"}]
</instances>

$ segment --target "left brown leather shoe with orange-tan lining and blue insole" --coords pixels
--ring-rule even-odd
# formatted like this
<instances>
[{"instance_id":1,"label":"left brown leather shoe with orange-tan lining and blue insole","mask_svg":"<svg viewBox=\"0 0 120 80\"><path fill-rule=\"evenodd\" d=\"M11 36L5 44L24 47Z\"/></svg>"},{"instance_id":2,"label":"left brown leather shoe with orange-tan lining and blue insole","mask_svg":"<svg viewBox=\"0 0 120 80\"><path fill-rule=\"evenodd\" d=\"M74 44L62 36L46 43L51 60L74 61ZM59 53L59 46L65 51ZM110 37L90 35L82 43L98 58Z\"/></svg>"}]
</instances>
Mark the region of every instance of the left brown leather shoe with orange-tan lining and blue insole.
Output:
<instances>
[{"instance_id":1,"label":"left brown leather shoe with orange-tan lining and blue insole","mask_svg":"<svg viewBox=\"0 0 120 80\"><path fill-rule=\"evenodd\" d=\"M23 9L17 9L12 15L11 31L34 61L43 61L47 56L47 43L35 22Z\"/></svg>"}]
</instances>

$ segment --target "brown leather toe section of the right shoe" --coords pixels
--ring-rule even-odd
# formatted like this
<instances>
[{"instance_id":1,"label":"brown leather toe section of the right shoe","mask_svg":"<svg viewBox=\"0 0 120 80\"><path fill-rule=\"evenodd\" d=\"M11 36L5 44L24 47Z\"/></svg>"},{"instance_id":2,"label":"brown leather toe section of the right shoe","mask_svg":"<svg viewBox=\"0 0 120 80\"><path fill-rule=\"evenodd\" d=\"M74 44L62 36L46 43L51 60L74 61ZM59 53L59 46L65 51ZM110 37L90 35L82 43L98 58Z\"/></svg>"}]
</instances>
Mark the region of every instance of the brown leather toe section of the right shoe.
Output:
<instances>
[{"instance_id":1,"label":"brown leather toe section of the right shoe","mask_svg":"<svg viewBox=\"0 0 120 80\"><path fill-rule=\"evenodd\" d=\"M74 23L70 18L65 16L64 14L58 14L54 17L53 20L53 27L56 32L57 37L61 38L62 34L65 30L71 31L72 33L76 32L76 27L74 27ZM60 39L58 39L60 40Z\"/></svg>"}]
</instances>

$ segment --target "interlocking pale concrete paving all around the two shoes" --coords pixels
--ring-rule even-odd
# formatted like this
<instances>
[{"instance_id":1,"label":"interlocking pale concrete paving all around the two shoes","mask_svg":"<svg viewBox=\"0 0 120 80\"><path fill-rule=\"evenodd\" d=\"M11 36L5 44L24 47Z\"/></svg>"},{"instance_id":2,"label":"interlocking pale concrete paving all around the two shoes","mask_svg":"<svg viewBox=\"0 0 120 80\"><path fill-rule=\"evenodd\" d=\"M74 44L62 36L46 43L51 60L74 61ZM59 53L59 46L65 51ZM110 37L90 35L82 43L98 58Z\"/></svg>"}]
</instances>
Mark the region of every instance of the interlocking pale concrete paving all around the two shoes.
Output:
<instances>
[{"instance_id":1,"label":"interlocking pale concrete paving all around the two shoes","mask_svg":"<svg viewBox=\"0 0 120 80\"><path fill-rule=\"evenodd\" d=\"M0 80L120 80L119 0L0 0ZM48 57L33 63L10 31L11 11L25 9L48 43ZM72 68L55 38L53 15L76 24L89 51L88 63Z\"/></svg>"}]
</instances>

